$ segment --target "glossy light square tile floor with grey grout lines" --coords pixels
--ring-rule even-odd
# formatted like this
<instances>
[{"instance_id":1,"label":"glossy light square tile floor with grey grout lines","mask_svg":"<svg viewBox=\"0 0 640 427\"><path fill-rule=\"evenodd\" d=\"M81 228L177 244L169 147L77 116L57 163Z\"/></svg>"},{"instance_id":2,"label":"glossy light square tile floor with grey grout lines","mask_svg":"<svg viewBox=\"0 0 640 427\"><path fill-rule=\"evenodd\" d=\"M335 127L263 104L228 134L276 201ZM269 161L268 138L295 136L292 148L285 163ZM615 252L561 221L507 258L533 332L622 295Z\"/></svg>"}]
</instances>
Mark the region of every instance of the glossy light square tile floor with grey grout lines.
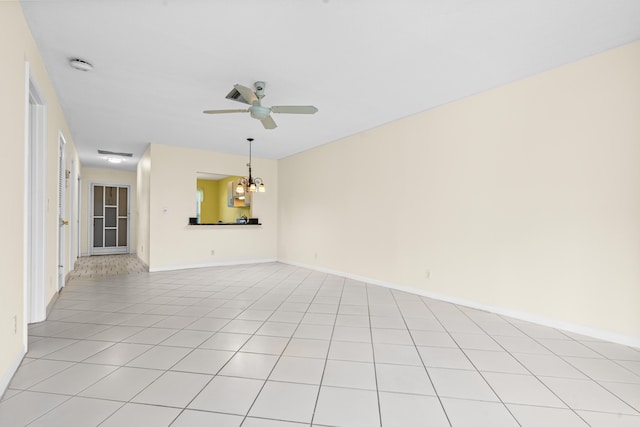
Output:
<instances>
[{"instance_id":1,"label":"glossy light square tile floor with grey grout lines","mask_svg":"<svg viewBox=\"0 0 640 427\"><path fill-rule=\"evenodd\" d=\"M640 350L273 263L75 278L2 426L640 426Z\"/></svg>"}]
</instances>

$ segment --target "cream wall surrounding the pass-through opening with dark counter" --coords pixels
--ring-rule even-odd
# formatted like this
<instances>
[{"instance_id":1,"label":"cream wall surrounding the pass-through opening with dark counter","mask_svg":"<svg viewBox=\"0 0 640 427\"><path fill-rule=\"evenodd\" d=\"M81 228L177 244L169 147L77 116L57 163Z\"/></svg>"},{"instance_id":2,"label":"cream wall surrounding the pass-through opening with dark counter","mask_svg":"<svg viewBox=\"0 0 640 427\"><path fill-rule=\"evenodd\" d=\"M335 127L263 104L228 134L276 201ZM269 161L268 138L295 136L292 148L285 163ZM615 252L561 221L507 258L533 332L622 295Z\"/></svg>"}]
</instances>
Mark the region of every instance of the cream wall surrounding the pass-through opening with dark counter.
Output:
<instances>
[{"instance_id":1,"label":"cream wall surrounding the pass-through opening with dark counter","mask_svg":"<svg viewBox=\"0 0 640 427\"><path fill-rule=\"evenodd\" d=\"M275 160L253 159L254 171L268 186L253 200L253 214L262 226L189 226L189 217L195 216L196 173L243 175L246 156L151 144L150 159L151 271L276 259Z\"/></svg>"}]
</instances>

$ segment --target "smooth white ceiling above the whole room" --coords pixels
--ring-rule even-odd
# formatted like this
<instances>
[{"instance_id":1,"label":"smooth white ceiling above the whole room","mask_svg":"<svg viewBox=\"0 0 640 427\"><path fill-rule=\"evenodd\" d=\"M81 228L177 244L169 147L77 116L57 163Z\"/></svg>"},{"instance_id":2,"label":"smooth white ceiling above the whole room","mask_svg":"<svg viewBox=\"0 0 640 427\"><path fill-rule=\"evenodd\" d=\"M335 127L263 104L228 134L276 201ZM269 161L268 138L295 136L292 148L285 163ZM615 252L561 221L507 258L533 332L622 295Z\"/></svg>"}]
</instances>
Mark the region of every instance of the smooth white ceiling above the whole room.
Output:
<instances>
[{"instance_id":1,"label":"smooth white ceiling above the whole room","mask_svg":"<svg viewBox=\"0 0 640 427\"><path fill-rule=\"evenodd\" d=\"M640 39L638 0L22 0L82 164L148 143L279 159ZM92 72L69 66L70 58ZM267 86L265 130L225 99ZM115 166L98 149L132 152Z\"/></svg>"}]
</instances>

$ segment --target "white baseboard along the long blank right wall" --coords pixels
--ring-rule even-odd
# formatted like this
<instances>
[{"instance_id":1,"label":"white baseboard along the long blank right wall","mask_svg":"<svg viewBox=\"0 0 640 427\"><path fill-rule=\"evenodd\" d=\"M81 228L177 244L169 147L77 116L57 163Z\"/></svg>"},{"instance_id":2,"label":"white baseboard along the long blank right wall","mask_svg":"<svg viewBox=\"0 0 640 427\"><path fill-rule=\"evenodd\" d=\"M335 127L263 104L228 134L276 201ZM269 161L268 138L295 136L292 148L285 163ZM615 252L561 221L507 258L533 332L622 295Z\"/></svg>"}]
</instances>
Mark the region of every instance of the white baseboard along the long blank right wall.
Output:
<instances>
[{"instance_id":1,"label":"white baseboard along the long blank right wall","mask_svg":"<svg viewBox=\"0 0 640 427\"><path fill-rule=\"evenodd\" d=\"M452 297L449 295L438 294L434 292L425 291L422 289L410 288L408 286L401 286L395 283L384 282L370 277L358 276L355 274L349 274L342 271L331 270L328 268L322 268L314 265L301 264L288 260L279 260L283 264L295 265L297 267L307 268L309 270L315 270L322 273L333 274L347 279L353 279L360 282L371 283L372 285L384 286L385 288L395 289L415 295L420 295L427 298L432 298L438 301L449 302L452 304L461 305L464 307L475 308L478 310L488 311L490 313L499 314L501 316L512 317L518 320L524 320L526 322L535 323L542 326L548 326L554 329L560 329L567 332L573 332L576 334L584 335L587 337L597 338L605 341L610 341L630 347L640 348L640 337L618 334L616 332L607 331L604 329L591 328L584 325L578 325L575 323L565 322L557 319L551 319L543 316L538 316L532 313L521 312L517 310L511 310L504 307L495 307L491 305L481 304L477 301L466 300L462 298Z\"/></svg>"}]
</instances>

